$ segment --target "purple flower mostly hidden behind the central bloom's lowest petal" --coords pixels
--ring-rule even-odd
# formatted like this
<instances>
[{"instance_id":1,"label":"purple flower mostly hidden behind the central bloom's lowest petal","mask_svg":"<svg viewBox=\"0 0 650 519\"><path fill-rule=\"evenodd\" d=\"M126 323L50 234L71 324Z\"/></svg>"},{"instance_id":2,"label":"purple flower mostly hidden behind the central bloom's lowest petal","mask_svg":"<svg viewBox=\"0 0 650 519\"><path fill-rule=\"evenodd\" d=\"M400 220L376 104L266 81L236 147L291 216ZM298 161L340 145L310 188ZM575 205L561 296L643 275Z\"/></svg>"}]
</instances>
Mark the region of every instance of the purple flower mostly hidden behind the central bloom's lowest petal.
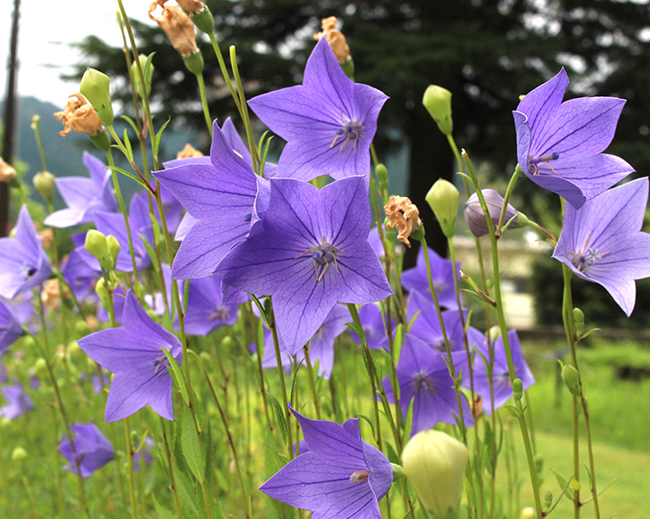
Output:
<instances>
[{"instance_id":1,"label":"purple flower mostly hidden behind the central bloom's lowest petal","mask_svg":"<svg viewBox=\"0 0 650 519\"><path fill-rule=\"evenodd\" d=\"M309 359L312 361L312 366L315 366L318 361L318 375L325 380L329 380L334 368L334 341L338 335L346 331L346 322L350 319L350 313L343 305L334 305L334 308L331 309L328 317L325 317L321 327L313 334L312 341L309 343ZM282 366L288 370L291 367L293 356L289 355L287 347L280 337L278 337L278 340ZM300 364L303 359L304 350L301 349L296 352L296 363ZM278 367L273 336L266 327L264 328L262 367L264 369Z\"/></svg>"}]
</instances>

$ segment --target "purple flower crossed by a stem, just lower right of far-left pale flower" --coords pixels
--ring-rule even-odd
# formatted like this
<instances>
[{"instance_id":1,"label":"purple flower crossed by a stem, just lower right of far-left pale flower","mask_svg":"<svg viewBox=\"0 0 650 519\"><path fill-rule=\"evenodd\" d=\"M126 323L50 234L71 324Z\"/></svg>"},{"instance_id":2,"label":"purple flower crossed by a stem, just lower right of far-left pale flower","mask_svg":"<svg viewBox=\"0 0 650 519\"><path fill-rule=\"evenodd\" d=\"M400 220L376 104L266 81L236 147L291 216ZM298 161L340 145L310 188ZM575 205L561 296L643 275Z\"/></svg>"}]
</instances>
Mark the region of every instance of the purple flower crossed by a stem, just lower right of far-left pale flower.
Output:
<instances>
[{"instance_id":1,"label":"purple flower crossed by a stem, just lower right of far-left pale flower","mask_svg":"<svg viewBox=\"0 0 650 519\"><path fill-rule=\"evenodd\" d=\"M113 235L120 243L120 252L117 255L115 270L133 272L133 260L129 251L129 235L124 216L116 212L97 211L95 214L97 230L104 235ZM134 196L129 204L129 229L133 242L133 253L136 257L136 268L144 270L151 265L151 258L146 251L143 238L153 246L154 227L149 217L149 206L146 199Z\"/></svg>"}]
</instances>

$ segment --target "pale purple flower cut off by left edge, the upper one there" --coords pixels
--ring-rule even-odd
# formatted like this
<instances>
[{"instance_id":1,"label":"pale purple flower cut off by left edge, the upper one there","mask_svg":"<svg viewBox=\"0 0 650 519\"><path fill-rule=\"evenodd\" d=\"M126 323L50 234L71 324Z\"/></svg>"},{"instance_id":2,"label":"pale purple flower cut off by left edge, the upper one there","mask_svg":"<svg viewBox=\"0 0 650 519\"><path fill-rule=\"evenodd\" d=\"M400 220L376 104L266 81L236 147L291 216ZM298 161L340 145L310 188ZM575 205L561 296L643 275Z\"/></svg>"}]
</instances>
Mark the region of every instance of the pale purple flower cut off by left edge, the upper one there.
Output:
<instances>
[{"instance_id":1,"label":"pale purple flower cut off by left edge, the upper one there","mask_svg":"<svg viewBox=\"0 0 650 519\"><path fill-rule=\"evenodd\" d=\"M0 296L13 299L43 283L52 272L27 205L21 207L13 238L0 238Z\"/></svg>"}]
</instances>

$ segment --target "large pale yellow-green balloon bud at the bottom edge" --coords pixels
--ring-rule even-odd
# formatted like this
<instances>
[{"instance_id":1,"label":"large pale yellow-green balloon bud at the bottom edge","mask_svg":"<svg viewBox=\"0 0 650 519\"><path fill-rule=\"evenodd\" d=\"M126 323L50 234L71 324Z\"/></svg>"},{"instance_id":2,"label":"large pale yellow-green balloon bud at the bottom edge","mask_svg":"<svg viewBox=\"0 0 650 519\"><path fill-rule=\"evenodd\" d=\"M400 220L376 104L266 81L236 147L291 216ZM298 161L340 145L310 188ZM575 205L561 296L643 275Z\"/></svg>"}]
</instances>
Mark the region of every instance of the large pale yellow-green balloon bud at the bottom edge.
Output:
<instances>
[{"instance_id":1,"label":"large pale yellow-green balloon bud at the bottom edge","mask_svg":"<svg viewBox=\"0 0 650 519\"><path fill-rule=\"evenodd\" d=\"M437 515L447 515L458 510L469 457L460 441L429 429L406 444L402 466L422 505Z\"/></svg>"}]
</instances>

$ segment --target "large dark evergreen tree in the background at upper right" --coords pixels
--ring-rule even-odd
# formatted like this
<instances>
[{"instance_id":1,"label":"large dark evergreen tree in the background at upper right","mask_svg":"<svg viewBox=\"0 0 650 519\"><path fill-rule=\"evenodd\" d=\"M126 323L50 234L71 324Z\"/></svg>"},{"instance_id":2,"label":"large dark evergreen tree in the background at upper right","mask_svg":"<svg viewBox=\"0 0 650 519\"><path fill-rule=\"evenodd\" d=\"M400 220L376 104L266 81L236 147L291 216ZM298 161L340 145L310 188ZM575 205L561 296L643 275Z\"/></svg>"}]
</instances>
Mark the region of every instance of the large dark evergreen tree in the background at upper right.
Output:
<instances>
[{"instance_id":1,"label":"large dark evergreen tree in the background at upper right","mask_svg":"<svg viewBox=\"0 0 650 519\"><path fill-rule=\"evenodd\" d=\"M209 0L207 4L222 50L237 45L249 98L300 83L313 46L312 34L320 30L322 18L337 16L354 57L355 80L376 86L391 98L379 119L379 158L397 145L408 145L409 192L422 208L429 186L437 177L451 178L456 169L446 138L421 106L430 83L454 94L457 142L470 150L472 158L489 161L500 177L507 178L515 162L511 111L519 95L551 78L563 65L572 79L570 95L618 95L629 100L611 151L624 155L639 170L650 169L646 4L620 0L326 0L318 4ZM135 24L135 29L139 50L158 53L154 106L165 117L171 114L173 124L203 128L195 78L171 51L160 29L143 24ZM79 72L90 65L113 78L125 75L121 49L110 48L96 37L88 37L79 47L89 59ZM234 114L234 106L212 49L202 48L211 112L224 119ZM540 193L525 182L520 190L524 196ZM429 210L422 213L429 241L437 243L432 239L437 225Z\"/></svg>"}]
</instances>

